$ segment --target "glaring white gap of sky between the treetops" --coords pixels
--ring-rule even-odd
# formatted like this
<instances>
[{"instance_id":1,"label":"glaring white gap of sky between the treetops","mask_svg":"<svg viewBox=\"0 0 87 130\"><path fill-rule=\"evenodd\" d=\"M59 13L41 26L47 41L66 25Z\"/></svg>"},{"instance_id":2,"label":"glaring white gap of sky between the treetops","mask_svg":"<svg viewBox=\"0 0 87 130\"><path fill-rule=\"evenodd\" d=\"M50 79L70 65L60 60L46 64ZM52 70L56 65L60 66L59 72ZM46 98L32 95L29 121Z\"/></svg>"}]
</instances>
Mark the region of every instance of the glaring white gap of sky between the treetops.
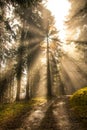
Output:
<instances>
[{"instance_id":1,"label":"glaring white gap of sky between the treetops","mask_svg":"<svg viewBox=\"0 0 87 130\"><path fill-rule=\"evenodd\" d=\"M56 20L56 27L60 31L61 40L65 39L64 21L68 19L71 4L68 0L48 0L47 8L52 12Z\"/></svg>"}]
</instances>

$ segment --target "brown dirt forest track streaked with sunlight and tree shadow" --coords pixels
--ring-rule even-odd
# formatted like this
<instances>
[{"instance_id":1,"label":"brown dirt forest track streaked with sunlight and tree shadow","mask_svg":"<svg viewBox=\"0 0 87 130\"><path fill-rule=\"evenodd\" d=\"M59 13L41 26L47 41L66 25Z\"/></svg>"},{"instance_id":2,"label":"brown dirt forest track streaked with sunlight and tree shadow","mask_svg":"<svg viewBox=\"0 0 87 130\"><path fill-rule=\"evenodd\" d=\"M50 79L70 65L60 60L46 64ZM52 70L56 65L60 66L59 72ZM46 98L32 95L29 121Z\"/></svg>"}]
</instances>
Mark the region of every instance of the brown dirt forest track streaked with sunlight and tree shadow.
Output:
<instances>
[{"instance_id":1,"label":"brown dirt forest track streaked with sunlight and tree shadow","mask_svg":"<svg viewBox=\"0 0 87 130\"><path fill-rule=\"evenodd\" d=\"M73 113L69 96L60 96L32 106L0 130L87 130L86 124Z\"/></svg>"}]
</instances>

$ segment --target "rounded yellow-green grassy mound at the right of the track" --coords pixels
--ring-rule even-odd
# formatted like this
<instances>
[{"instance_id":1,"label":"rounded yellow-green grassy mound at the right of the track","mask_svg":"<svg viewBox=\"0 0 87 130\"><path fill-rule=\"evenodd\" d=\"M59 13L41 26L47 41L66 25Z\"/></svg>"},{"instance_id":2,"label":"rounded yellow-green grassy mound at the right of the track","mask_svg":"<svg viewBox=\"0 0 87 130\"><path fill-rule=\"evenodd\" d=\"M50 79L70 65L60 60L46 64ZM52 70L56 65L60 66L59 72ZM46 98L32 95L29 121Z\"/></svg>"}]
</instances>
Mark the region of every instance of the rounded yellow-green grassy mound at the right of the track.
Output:
<instances>
[{"instance_id":1,"label":"rounded yellow-green grassy mound at the right of the track","mask_svg":"<svg viewBox=\"0 0 87 130\"><path fill-rule=\"evenodd\" d=\"M79 118L87 120L87 87L76 91L70 97L70 103L75 114Z\"/></svg>"}]
</instances>

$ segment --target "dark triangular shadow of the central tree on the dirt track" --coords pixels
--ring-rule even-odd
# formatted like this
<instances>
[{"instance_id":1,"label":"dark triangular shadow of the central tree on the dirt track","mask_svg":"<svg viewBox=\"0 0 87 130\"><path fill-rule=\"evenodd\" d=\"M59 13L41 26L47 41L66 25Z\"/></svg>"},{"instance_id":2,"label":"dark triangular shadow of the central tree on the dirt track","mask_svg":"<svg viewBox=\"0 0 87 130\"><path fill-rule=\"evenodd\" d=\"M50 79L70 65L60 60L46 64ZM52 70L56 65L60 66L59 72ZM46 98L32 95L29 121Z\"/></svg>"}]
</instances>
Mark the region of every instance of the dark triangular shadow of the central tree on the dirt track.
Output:
<instances>
[{"instance_id":1,"label":"dark triangular shadow of the central tree on the dirt track","mask_svg":"<svg viewBox=\"0 0 87 130\"><path fill-rule=\"evenodd\" d=\"M52 104L46 111L40 126L36 130L60 130L58 128L57 119L53 114Z\"/></svg>"}]
</instances>

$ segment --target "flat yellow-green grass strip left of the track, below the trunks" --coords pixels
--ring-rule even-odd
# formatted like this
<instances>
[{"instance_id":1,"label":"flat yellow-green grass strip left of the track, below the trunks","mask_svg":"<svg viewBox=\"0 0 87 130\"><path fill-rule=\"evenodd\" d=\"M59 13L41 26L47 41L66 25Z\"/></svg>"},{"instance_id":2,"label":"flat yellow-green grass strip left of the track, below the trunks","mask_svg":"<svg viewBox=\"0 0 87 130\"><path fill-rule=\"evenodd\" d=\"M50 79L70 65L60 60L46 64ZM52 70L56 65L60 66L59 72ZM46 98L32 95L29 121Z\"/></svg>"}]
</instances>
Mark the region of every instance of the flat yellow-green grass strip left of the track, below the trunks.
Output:
<instances>
[{"instance_id":1,"label":"flat yellow-green grass strip left of the track, below the trunks","mask_svg":"<svg viewBox=\"0 0 87 130\"><path fill-rule=\"evenodd\" d=\"M5 124L12 119L32 110L37 105L45 103L44 98L33 98L27 102L14 102L11 104L0 104L0 125Z\"/></svg>"}]
</instances>

